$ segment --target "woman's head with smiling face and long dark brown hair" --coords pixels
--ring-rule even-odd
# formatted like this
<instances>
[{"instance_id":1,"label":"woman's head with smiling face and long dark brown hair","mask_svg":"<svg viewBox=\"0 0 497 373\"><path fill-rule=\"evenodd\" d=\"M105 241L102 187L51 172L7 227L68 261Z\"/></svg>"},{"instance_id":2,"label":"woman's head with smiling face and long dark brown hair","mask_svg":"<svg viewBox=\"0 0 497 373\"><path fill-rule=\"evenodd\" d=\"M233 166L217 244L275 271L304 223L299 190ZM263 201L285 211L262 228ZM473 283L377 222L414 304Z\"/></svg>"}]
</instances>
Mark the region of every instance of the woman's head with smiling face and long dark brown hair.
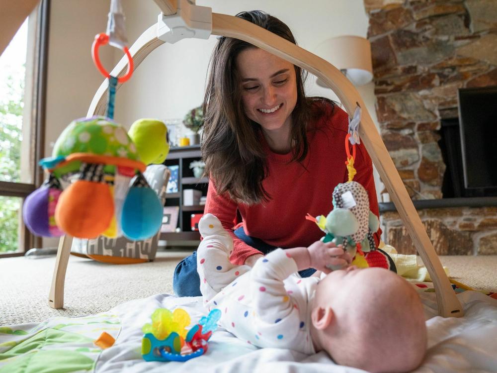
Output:
<instances>
[{"instance_id":1,"label":"woman's head with smiling face and long dark brown hair","mask_svg":"<svg viewBox=\"0 0 497 373\"><path fill-rule=\"evenodd\" d=\"M276 17L259 10L237 16L297 44L289 27ZM307 73L229 37L219 38L210 65L202 144L206 174L216 181L219 194L229 193L248 204L262 202L268 194L261 185L261 136L276 153L289 153L292 147L292 161L302 162L308 152L305 126L313 100L304 93Z\"/></svg>"}]
</instances>

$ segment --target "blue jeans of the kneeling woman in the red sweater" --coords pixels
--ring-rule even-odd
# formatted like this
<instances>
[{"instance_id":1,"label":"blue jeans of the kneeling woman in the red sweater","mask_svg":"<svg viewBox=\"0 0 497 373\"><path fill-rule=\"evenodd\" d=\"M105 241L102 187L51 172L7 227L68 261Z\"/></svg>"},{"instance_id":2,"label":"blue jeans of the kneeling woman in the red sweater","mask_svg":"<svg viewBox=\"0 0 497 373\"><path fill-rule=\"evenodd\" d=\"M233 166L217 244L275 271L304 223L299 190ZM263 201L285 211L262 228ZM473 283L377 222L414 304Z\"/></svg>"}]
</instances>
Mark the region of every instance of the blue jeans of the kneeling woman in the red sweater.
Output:
<instances>
[{"instance_id":1,"label":"blue jeans of the kneeling woman in the red sweater","mask_svg":"<svg viewBox=\"0 0 497 373\"><path fill-rule=\"evenodd\" d=\"M244 241L247 245L259 250L263 254L267 254L277 246L272 246L264 241L247 236L244 232L244 228L240 227L235 230L235 235ZM309 268L304 271L299 271L300 276L309 277L316 270L314 268ZM176 269L174 270L174 276L172 278L172 288L177 296L200 296L200 278L197 273L197 252L193 252L192 255L186 257L181 262L178 263Z\"/></svg>"}]
</instances>

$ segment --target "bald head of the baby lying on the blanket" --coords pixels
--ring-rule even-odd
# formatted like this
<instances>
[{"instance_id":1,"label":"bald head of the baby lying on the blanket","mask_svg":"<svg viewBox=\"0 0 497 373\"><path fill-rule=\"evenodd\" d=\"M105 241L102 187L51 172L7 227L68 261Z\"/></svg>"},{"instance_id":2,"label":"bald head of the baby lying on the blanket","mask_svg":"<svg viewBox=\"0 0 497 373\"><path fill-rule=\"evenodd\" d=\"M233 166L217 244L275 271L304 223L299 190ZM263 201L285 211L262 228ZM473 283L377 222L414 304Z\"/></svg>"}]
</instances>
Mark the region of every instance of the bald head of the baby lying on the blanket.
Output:
<instances>
[{"instance_id":1,"label":"bald head of the baby lying on the blanket","mask_svg":"<svg viewBox=\"0 0 497 373\"><path fill-rule=\"evenodd\" d=\"M408 372L426 352L426 325L414 287L382 268L333 271L320 281L313 338L340 365Z\"/></svg>"}]
</instances>

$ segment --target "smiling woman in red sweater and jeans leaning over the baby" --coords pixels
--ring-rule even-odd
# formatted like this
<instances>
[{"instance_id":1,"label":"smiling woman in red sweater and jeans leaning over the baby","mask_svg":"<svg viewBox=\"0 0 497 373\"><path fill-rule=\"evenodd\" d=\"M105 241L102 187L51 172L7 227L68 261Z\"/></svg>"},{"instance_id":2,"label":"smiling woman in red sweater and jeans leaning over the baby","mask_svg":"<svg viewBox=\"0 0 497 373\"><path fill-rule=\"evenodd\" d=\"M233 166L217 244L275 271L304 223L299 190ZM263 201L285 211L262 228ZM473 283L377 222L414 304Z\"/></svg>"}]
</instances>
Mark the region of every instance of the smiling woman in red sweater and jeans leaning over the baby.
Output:
<instances>
[{"instance_id":1,"label":"smiling woman in red sweater and jeans leaning over the baby","mask_svg":"<svg viewBox=\"0 0 497 373\"><path fill-rule=\"evenodd\" d=\"M288 26L267 13L237 16L296 44ZM219 38L210 65L204 213L215 215L233 237L230 260L253 266L276 247L311 245L323 232L305 215L326 215L333 188L347 181L347 114L326 98L306 97L299 67L247 42ZM354 181L366 188L370 209L378 215L371 159L362 144L356 153ZM242 221L233 231L237 216ZM378 244L378 232L375 240ZM176 267L173 288L178 296L198 296L199 286L193 253Z\"/></svg>"}]
</instances>

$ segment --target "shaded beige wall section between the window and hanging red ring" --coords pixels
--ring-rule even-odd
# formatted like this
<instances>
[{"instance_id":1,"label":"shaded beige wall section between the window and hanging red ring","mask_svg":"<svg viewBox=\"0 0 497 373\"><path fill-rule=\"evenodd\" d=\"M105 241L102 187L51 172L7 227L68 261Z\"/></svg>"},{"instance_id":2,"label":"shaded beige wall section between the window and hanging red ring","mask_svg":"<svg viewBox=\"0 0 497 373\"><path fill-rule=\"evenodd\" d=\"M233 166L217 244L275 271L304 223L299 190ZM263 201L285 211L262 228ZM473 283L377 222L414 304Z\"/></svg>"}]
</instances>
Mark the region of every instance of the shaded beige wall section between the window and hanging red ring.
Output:
<instances>
[{"instance_id":1,"label":"shaded beige wall section between the window and hanging red ring","mask_svg":"<svg viewBox=\"0 0 497 373\"><path fill-rule=\"evenodd\" d=\"M105 32L109 0L52 0L50 2L46 95L45 156L51 143L76 118L86 116L102 83L91 60L96 34ZM113 68L114 48L100 48L102 64Z\"/></svg>"}]
</instances>

